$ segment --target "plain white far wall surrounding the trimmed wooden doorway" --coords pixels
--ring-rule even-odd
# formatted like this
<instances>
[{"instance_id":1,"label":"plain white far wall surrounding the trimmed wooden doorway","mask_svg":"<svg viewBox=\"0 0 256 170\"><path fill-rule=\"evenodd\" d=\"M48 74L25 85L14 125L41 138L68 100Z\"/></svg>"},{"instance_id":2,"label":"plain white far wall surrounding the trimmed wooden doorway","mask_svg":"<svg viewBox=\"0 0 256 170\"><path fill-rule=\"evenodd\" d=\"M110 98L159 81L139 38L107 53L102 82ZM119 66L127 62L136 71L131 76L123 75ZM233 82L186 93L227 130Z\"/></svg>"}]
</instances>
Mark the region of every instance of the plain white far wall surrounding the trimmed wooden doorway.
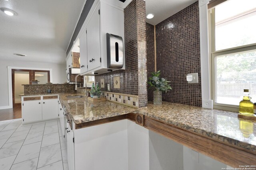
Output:
<instances>
[{"instance_id":1,"label":"plain white far wall surrounding the trimmed wooden doorway","mask_svg":"<svg viewBox=\"0 0 256 170\"><path fill-rule=\"evenodd\" d=\"M65 59L64 59L65 60ZM30 68L52 68L52 83L66 82L66 64L36 63L28 61L0 61L0 108L9 106L8 95L8 69L7 66L30 67ZM10 84L11 86L11 84Z\"/></svg>"}]
</instances>

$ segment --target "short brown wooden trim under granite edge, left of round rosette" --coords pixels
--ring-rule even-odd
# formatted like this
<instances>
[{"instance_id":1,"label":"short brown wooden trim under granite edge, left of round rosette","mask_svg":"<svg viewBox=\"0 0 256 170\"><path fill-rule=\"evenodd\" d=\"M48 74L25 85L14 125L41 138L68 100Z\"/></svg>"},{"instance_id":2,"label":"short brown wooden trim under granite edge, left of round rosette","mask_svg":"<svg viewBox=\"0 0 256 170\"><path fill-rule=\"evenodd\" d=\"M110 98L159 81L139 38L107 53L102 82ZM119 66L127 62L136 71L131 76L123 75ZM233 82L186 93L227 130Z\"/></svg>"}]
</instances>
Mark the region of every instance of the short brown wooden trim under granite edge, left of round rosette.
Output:
<instances>
[{"instance_id":1,"label":"short brown wooden trim under granite edge, left of round rosette","mask_svg":"<svg viewBox=\"0 0 256 170\"><path fill-rule=\"evenodd\" d=\"M113 122L113 121L119 121L119 120L123 120L123 119L129 119L129 120L135 122L135 113L127 113L127 114L124 114L124 115L108 117L108 118L105 118L105 119L89 121L89 122L85 122L85 123L79 123L79 124L76 124L76 129L81 129L81 128L84 128L84 127L100 125L100 124L104 124L104 123L110 123L110 122Z\"/></svg>"}]
</instances>

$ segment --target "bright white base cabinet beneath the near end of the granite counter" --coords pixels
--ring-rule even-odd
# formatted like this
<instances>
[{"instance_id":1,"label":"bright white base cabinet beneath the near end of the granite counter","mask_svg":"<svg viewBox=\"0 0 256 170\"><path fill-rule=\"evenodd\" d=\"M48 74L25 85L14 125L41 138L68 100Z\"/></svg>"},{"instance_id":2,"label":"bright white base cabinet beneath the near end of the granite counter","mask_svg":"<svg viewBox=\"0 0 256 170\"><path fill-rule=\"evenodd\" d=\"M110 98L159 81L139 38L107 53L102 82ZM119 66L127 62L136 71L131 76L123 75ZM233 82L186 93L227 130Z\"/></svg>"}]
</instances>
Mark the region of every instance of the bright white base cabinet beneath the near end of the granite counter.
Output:
<instances>
[{"instance_id":1,"label":"bright white base cabinet beneath the near end of the granite counter","mask_svg":"<svg viewBox=\"0 0 256 170\"><path fill-rule=\"evenodd\" d=\"M67 127L70 128L68 123ZM73 131L68 129L69 168L149 170L148 139L148 129L127 119Z\"/></svg>"}]
</instances>

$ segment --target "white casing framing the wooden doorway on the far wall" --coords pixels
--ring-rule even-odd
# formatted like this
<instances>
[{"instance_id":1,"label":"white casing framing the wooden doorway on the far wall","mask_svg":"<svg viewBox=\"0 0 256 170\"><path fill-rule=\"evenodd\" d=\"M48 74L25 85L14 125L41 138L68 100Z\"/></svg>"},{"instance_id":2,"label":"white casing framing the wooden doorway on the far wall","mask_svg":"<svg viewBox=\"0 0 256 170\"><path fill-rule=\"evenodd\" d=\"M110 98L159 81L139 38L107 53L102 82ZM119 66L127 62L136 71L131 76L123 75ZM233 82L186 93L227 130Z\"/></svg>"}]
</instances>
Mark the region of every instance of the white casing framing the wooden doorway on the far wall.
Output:
<instances>
[{"instance_id":1,"label":"white casing framing the wooden doorway on the far wall","mask_svg":"<svg viewBox=\"0 0 256 170\"><path fill-rule=\"evenodd\" d=\"M24 69L24 70L49 70L50 71L50 82L52 82L52 68L32 68L32 67L16 67L16 66L7 66L8 69L8 98L9 105L2 106L0 109L9 109L12 108L12 69Z\"/></svg>"}]
</instances>

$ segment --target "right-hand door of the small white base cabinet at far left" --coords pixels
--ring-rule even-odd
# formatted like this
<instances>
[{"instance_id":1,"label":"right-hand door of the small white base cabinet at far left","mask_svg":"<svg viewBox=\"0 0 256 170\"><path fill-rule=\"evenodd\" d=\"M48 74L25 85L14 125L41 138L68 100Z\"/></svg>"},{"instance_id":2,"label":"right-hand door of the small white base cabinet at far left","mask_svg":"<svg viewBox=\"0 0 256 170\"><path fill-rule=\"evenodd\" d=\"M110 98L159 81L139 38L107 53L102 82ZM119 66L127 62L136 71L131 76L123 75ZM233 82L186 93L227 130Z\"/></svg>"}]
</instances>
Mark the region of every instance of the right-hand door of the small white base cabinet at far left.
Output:
<instances>
[{"instance_id":1,"label":"right-hand door of the small white base cabinet at far left","mask_svg":"<svg viewBox=\"0 0 256 170\"><path fill-rule=\"evenodd\" d=\"M42 118L53 119L58 118L58 99L42 100Z\"/></svg>"}]
</instances>

